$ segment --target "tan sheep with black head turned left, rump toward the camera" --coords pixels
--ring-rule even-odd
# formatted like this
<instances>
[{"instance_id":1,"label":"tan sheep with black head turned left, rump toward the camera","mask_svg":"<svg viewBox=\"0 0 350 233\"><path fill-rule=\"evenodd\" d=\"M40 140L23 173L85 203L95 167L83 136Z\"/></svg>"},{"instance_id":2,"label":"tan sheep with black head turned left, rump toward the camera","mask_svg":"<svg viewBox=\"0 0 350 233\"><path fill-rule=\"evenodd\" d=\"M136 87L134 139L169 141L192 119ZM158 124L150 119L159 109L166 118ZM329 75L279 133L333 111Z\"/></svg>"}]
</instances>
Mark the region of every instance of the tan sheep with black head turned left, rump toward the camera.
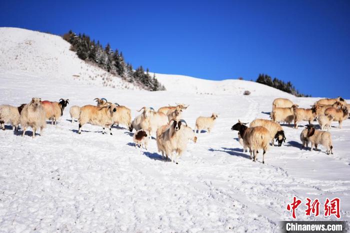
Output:
<instances>
[{"instance_id":1,"label":"tan sheep with black head turned left, rump toward the camera","mask_svg":"<svg viewBox=\"0 0 350 233\"><path fill-rule=\"evenodd\" d=\"M256 161L256 153L259 149L262 149L262 163L265 163L264 156L268 149L269 141L273 138L267 128L263 126L247 127L238 119L238 122L231 127L231 130L239 131L243 138L243 147L249 148L250 159L253 158L254 162ZM251 152L253 157L251 157Z\"/></svg>"}]
</instances>

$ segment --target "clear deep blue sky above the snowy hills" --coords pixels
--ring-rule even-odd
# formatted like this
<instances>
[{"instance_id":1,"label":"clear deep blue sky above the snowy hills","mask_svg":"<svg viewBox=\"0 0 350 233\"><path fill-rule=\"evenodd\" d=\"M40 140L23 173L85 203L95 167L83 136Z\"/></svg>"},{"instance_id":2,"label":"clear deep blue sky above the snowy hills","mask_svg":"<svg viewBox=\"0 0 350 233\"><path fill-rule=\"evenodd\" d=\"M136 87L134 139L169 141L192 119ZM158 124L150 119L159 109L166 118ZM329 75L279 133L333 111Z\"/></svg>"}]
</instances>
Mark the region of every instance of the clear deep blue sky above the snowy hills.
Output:
<instances>
[{"instance_id":1,"label":"clear deep blue sky above the snowy hills","mask_svg":"<svg viewBox=\"0 0 350 233\"><path fill-rule=\"evenodd\" d=\"M312 96L350 98L349 0L0 0L0 26L84 32L154 72L266 73Z\"/></svg>"}]
</instances>

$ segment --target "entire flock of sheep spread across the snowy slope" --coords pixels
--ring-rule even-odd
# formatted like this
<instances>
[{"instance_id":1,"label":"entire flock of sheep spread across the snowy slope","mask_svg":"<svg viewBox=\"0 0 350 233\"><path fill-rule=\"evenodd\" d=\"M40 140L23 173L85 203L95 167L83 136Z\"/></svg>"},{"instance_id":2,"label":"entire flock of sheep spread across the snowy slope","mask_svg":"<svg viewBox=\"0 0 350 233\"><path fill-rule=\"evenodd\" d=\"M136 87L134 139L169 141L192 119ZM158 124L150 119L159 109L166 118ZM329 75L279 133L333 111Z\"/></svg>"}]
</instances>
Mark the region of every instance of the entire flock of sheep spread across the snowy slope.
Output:
<instances>
[{"instance_id":1,"label":"entire flock of sheep spread across the snowy slope","mask_svg":"<svg viewBox=\"0 0 350 233\"><path fill-rule=\"evenodd\" d=\"M126 106L118 103L108 102L105 98L95 98L96 105L71 106L69 113L71 122L76 120L79 122L78 133L81 133L81 127L86 124L99 125L103 128L102 133L108 129L111 132L113 124L125 125L132 131L135 146L144 146L147 149L149 138L155 135L158 152L162 156L170 156L173 162L177 163L177 159L186 149L189 140L196 142L195 132L202 129L210 132L218 114L212 113L209 117L199 116L195 121L195 128L192 130L182 119L182 111L188 105L176 103L176 106L164 106L155 111L152 107L142 107L138 110L140 114L131 120L131 110ZM35 137L35 131L45 127L47 121L57 124L57 120L62 116L64 108L69 103L69 99L59 99L56 101L42 101L41 98L32 98L27 104L21 104L19 107L11 105L0 105L0 127L4 129L4 123L10 123L14 130L18 130L19 124L22 128L22 136L28 126L32 128L32 137ZM278 146L285 142L284 130L279 122L291 123L294 121L294 127L298 127L298 123L302 120L308 121L308 125L300 133L302 147L308 146L311 142L311 150L313 147L317 149L318 144L322 144L328 154L332 152L331 134L324 129L329 129L331 121L338 121L339 128L341 122L349 116L349 104L341 98L323 98L316 101L311 108L299 108L297 104L293 104L289 99L276 98L272 103L272 111L269 119L255 119L247 123L240 120L234 124L231 129L238 131L238 141L243 146L243 151L249 149L250 157L256 160L258 150L262 149L264 163L264 155L274 140L278 142ZM311 124L314 119L318 120L322 130L316 130Z\"/></svg>"}]
</instances>

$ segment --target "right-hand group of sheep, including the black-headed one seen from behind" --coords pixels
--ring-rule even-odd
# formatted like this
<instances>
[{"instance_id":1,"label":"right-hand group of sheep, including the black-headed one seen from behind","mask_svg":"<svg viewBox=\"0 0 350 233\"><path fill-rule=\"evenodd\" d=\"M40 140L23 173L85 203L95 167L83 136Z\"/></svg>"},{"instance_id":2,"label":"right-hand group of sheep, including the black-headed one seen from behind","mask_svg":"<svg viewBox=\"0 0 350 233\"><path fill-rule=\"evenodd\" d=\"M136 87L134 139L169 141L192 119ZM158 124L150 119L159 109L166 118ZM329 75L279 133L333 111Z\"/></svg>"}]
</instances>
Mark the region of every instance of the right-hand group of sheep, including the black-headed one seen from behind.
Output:
<instances>
[{"instance_id":1,"label":"right-hand group of sheep, including the black-headed one seen from behind","mask_svg":"<svg viewBox=\"0 0 350 233\"><path fill-rule=\"evenodd\" d=\"M302 120L308 121L306 128L300 133L302 142L301 148L311 142L311 148L317 149L317 145L321 144L326 148L327 154L332 154L331 134L324 129L330 129L331 121L338 121L339 128L344 119L349 116L350 104L341 98L323 98L316 101L311 108L299 108L297 104L286 98L276 98L272 102L272 111L268 119L255 119L247 127L240 120L234 124L231 129L238 130L238 140L243 145L243 150L249 148L250 157L256 160L259 149L262 149L262 163L264 163L264 155L269 146L274 145L274 139L281 146L285 142L284 130L278 122L286 122L290 124L294 121L294 127L298 127L298 123ZM316 130L311 121L317 119L322 130Z\"/></svg>"}]
</instances>

